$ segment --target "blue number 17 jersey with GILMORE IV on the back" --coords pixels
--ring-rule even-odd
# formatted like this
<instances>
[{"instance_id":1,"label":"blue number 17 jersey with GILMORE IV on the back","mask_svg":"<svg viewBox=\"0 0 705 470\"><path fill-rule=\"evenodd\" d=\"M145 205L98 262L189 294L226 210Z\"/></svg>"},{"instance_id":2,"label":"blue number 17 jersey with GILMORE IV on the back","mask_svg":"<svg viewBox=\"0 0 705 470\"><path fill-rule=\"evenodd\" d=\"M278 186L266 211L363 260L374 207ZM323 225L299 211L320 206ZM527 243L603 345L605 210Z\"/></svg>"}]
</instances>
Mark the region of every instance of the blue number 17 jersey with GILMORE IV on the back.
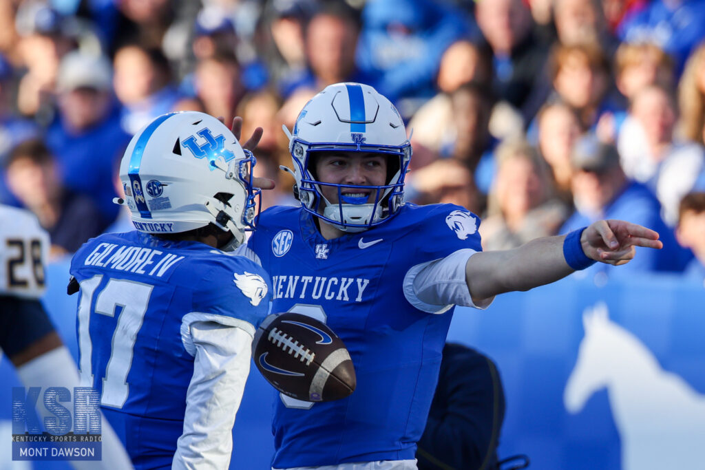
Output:
<instances>
[{"instance_id":1,"label":"blue number 17 jersey with GILMORE IV on the back","mask_svg":"<svg viewBox=\"0 0 705 470\"><path fill-rule=\"evenodd\" d=\"M171 468L194 371L189 314L257 328L269 311L269 277L242 256L140 232L89 240L73 256L71 274L81 287L82 385L101 395L136 468ZM264 287L243 288L257 283Z\"/></svg>"}]
</instances>

